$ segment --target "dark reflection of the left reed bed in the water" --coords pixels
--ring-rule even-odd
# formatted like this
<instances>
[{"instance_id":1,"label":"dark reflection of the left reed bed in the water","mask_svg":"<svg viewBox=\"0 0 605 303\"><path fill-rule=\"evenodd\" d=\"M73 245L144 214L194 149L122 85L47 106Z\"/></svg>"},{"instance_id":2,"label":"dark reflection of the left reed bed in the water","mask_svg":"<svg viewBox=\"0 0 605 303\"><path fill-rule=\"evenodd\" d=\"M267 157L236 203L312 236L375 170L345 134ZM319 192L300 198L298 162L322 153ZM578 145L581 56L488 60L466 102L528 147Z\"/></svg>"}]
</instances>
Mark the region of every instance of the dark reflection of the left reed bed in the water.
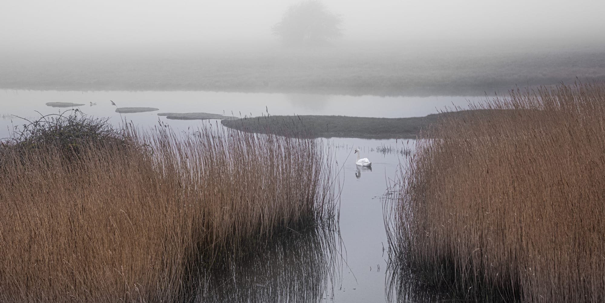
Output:
<instances>
[{"instance_id":1,"label":"dark reflection of the left reed bed in the water","mask_svg":"<svg viewBox=\"0 0 605 303\"><path fill-rule=\"evenodd\" d=\"M266 250L212 270L195 302L322 302L340 277L338 234L329 228L284 233Z\"/></svg>"}]
</instances>

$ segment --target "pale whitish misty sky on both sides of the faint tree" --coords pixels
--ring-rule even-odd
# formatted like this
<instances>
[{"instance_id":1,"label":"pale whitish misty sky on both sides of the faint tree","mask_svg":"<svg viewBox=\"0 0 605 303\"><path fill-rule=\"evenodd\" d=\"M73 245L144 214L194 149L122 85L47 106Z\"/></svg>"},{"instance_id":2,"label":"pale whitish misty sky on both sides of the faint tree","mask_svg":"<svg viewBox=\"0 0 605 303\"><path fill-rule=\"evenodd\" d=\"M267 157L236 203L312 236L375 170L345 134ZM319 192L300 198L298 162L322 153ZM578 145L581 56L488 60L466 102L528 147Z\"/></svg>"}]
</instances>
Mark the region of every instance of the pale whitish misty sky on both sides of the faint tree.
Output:
<instances>
[{"instance_id":1,"label":"pale whitish misty sky on both sides of the faint tree","mask_svg":"<svg viewBox=\"0 0 605 303\"><path fill-rule=\"evenodd\" d=\"M0 43L13 49L274 39L292 0L8 0ZM605 1L325 0L345 39L602 39Z\"/></svg>"}]
</instances>

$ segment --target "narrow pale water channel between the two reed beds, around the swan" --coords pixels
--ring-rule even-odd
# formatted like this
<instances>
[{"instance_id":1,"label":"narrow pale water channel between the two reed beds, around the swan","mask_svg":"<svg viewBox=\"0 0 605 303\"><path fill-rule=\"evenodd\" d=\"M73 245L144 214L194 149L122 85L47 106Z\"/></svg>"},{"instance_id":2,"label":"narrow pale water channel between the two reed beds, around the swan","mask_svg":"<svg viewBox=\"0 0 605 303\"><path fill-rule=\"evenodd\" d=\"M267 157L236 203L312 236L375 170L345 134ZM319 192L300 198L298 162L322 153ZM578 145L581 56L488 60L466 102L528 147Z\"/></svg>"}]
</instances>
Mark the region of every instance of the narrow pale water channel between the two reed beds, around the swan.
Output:
<instances>
[{"instance_id":1,"label":"narrow pale water channel between the two reed beds, around the swan","mask_svg":"<svg viewBox=\"0 0 605 303\"><path fill-rule=\"evenodd\" d=\"M405 162L405 156L398 151L413 148L413 141L350 138L331 141L341 146L336 148L336 160L344 168L340 231L346 258L342 286L336 287L334 301L384 302L388 243L380 198L387 188L387 179L395 176L397 164ZM382 153L377 150L379 146L393 147L396 151ZM361 158L370 159L371 168L355 164L354 148L361 150Z\"/></svg>"}]
</instances>

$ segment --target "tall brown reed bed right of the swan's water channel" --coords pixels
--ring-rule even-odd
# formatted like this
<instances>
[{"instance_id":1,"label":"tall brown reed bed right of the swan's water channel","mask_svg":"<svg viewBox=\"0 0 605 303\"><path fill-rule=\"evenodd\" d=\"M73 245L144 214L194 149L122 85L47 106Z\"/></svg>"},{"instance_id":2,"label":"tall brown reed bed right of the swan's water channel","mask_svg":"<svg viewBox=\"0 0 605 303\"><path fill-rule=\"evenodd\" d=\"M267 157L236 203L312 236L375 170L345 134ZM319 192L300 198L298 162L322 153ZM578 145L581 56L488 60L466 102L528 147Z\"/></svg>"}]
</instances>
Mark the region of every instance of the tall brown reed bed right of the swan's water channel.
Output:
<instances>
[{"instance_id":1,"label":"tall brown reed bed right of the swan's water channel","mask_svg":"<svg viewBox=\"0 0 605 303\"><path fill-rule=\"evenodd\" d=\"M605 84L444 117L385 205L391 295L407 266L469 301L605 301Z\"/></svg>"}]
</instances>

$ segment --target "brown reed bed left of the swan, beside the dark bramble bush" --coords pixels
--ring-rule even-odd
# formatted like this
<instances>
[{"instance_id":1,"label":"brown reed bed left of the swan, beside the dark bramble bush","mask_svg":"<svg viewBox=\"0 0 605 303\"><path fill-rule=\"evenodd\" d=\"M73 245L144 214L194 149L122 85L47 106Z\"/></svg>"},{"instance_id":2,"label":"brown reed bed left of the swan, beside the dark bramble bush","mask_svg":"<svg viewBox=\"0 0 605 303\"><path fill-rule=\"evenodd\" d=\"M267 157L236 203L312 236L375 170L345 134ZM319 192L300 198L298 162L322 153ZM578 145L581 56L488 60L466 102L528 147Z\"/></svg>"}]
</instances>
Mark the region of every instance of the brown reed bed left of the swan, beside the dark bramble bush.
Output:
<instances>
[{"instance_id":1,"label":"brown reed bed left of the swan, beside the dark bramble bush","mask_svg":"<svg viewBox=\"0 0 605 303\"><path fill-rule=\"evenodd\" d=\"M224 260L335 215L321 141L162 125L124 138L74 157L0 147L1 302L193 301Z\"/></svg>"}]
</instances>

